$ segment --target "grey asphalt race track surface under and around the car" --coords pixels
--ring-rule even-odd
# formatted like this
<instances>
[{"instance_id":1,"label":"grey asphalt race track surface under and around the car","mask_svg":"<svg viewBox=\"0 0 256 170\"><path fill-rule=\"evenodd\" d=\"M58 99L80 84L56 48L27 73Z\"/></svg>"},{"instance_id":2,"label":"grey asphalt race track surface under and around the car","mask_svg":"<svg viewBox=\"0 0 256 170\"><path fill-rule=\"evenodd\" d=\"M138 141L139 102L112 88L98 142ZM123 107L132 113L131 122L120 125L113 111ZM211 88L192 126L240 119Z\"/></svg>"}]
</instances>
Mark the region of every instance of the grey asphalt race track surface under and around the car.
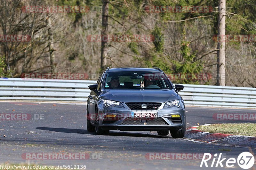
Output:
<instances>
[{"instance_id":1,"label":"grey asphalt race track surface under and around the car","mask_svg":"<svg viewBox=\"0 0 256 170\"><path fill-rule=\"evenodd\" d=\"M156 153L222 153L237 158L255 148L231 147L161 137L156 132L110 131L108 136L86 130L86 106L53 103L0 102L1 113L27 114L29 120L0 120L0 163L86 165L86 169L199 169L201 159L155 159ZM15 110L15 111L13 111ZM255 113L256 110L186 107L187 127L208 123L248 122L215 120L216 113ZM41 116L41 119L40 119ZM251 121L254 122L255 121ZM5 136L5 137L4 137ZM27 154L26 154L27 153ZM86 159L26 158L28 153L86 153ZM33 155L33 154L31 154ZM37 157L39 158L39 157ZM80 158L80 157L79 157ZM152 158L152 157L151 157ZM217 160L217 159L216 159ZM208 163L208 166L212 162ZM215 164L214 164L215 166ZM225 166L225 165L224 165ZM254 168L256 166L254 165ZM207 168L202 168L207 169ZM209 168L213 169L213 168ZM218 166L214 169L224 169ZM241 169L237 164L233 169Z\"/></svg>"}]
</instances>

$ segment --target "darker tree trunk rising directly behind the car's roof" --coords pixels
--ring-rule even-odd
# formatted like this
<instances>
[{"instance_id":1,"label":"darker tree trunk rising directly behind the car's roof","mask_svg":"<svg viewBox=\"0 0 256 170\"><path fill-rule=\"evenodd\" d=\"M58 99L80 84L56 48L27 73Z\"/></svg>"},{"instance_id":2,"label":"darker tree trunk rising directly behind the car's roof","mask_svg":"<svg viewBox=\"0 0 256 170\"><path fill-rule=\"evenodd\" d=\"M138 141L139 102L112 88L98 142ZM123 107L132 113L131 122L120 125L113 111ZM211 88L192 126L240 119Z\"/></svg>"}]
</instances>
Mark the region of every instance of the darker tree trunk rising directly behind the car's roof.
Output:
<instances>
[{"instance_id":1,"label":"darker tree trunk rising directly behind the car's roof","mask_svg":"<svg viewBox=\"0 0 256 170\"><path fill-rule=\"evenodd\" d=\"M109 0L102 0L101 36L108 34L108 3L109 3ZM107 58L108 58L107 44L108 44L108 41L101 41L101 55L100 55L101 70L103 70L107 66Z\"/></svg>"}]
</instances>

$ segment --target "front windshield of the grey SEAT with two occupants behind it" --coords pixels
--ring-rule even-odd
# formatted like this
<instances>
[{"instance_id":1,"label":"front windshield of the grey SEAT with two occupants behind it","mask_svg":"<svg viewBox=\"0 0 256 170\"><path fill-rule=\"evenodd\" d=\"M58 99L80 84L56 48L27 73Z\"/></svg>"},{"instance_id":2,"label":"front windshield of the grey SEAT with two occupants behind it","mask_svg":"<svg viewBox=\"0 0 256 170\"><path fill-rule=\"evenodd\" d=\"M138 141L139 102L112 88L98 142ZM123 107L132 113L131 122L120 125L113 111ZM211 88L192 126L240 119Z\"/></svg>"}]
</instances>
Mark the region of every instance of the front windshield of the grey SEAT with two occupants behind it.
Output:
<instances>
[{"instance_id":1,"label":"front windshield of the grey SEAT with two occupants behind it","mask_svg":"<svg viewBox=\"0 0 256 170\"><path fill-rule=\"evenodd\" d=\"M173 88L164 73L150 71L108 72L103 85L106 89Z\"/></svg>"}]
</instances>

